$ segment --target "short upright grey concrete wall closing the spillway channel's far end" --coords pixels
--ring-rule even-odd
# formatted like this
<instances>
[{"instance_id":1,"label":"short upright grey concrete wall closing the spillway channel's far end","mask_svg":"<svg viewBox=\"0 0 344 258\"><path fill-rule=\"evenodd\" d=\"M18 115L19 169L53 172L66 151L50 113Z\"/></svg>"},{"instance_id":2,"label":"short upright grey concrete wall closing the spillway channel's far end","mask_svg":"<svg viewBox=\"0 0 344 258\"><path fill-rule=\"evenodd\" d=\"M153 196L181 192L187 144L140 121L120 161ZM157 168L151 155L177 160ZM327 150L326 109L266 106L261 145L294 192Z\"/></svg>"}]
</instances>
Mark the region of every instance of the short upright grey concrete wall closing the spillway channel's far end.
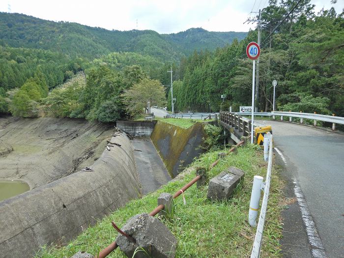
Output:
<instances>
[{"instance_id":1,"label":"short upright grey concrete wall closing the spillway channel's far end","mask_svg":"<svg viewBox=\"0 0 344 258\"><path fill-rule=\"evenodd\" d=\"M153 121L117 121L116 127L132 137L149 137L153 132L156 120Z\"/></svg>"}]
</instances>

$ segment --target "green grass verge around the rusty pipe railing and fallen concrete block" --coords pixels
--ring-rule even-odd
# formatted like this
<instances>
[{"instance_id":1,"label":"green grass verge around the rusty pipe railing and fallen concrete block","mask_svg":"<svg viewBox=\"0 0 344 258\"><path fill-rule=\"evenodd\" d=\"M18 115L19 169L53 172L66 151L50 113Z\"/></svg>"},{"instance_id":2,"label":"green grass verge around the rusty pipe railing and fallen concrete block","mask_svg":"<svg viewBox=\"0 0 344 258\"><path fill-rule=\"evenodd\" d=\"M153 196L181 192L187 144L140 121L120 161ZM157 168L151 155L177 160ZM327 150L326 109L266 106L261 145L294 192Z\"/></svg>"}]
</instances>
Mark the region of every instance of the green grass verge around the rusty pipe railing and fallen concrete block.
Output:
<instances>
[{"instance_id":1,"label":"green grass verge around the rusty pipe railing and fallen concrete block","mask_svg":"<svg viewBox=\"0 0 344 258\"><path fill-rule=\"evenodd\" d=\"M176 119L184 120L184 119ZM43 248L36 258L71 257L78 251L97 254L115 240L117 232L111 226L114 221L123 226L132 216L149 213L157 205L157 198L162 192L174 193L195 176L195 168L208 166L217 159L219 151L203 154L178 180L168 183L158 191L133 200L123 208L113 212L99 221L95 226L84 230L75 240L62 247ZM161 218L162 222L176 236L178 244L176 258L243 258L249 257L256 230L247 222L249 201L251 196L253 176L265 176L266 163L263 162L262 151L257 146L239 147L238 153L231 153L208 172L212 178L230 166L235 166L245 172L245 179L229 201L208 201L207 186L200 189L196 184L185 191L186 205L182 197L174 200L172 219ZM283 182L279 179L278 168L274 167L270 186L270 195L261 257L282 257L279 239L282 236L280 218L283 209ZM117 249L109 258L123 258Z\"/></svg>"}]
</instances>

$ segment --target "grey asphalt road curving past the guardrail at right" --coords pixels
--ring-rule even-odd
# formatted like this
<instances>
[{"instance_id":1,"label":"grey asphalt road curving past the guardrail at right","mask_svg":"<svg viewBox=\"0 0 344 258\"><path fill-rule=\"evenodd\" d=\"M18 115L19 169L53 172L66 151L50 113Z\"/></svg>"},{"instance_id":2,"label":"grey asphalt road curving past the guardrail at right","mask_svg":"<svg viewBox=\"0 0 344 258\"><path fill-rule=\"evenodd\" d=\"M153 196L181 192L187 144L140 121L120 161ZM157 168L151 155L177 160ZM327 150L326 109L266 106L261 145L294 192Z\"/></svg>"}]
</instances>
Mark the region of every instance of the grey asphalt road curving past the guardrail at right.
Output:
<instances>
[{"instance_id":1,"label":"grey asphalt road curving past the guardrail at right","mask_svg":"<svg viewBox=\"0 0 344 258\"><path fill-rule=\"evenodd\" d=\"M344 257L344 134L287 122L265 123L272 125L275 146L285 159L280 158L289 192L298 202L285 213L284 256ZM316 235L320 243L315 243Z\"/></svg>"}]
</instances>

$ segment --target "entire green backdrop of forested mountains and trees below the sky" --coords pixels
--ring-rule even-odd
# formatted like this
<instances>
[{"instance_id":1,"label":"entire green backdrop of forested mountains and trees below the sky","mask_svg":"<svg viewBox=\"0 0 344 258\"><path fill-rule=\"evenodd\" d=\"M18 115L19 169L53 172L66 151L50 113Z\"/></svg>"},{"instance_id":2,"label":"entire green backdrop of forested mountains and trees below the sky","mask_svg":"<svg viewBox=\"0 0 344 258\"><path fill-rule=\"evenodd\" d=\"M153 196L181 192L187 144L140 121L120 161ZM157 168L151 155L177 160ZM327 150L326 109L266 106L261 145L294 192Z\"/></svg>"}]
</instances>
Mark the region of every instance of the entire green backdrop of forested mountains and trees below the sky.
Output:
<instances>
[{"instance_id":1,"label":"entire green backdrop of forested mountains and trees below the sky","mask_svg":"<svg viewBox=\"0 0 344 258\"><path fill-rule=\"evenodd\" d=\"M294 4L269 0L262 10L258 109L272 110L277 80L276 110L344 116L344 14L315 14L302 0L267 37ZM142 113L147 101L162 105L164 95L171 108L170 69L176 112L237 111L251 104L245 50L257 30L240 41L246 34L109 31L0 13L0 114L111 122Z\"/></svg>"}]
</instances>

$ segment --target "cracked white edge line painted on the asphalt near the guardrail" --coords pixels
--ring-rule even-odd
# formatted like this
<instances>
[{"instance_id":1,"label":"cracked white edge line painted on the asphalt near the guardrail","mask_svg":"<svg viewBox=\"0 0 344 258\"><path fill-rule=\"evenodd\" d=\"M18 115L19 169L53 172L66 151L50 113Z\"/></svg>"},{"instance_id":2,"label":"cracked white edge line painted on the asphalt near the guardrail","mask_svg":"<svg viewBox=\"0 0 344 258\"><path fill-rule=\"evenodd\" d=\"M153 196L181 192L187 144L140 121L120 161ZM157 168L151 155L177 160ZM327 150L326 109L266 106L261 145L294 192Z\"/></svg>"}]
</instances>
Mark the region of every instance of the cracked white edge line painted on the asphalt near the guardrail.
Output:
<instances>
[{"instance_id":1,"label":"cracked white edge line painted on the asphalt near the guardrail","mask_svg":"<svg viewBox=\"0 0 344 258\"><path fill-rule=\"evenodd\" d=\"M293 184L294 184L294 193L295 193L297 202L299 203L299 206L300 206L302 220L303 220L303 223L305 224L308 241L311 246L312 257L313 258L326 258L325 248L323 247L318 231L315 228L314 220L312 218L311 213L309 212L308 205L301 191L301 188L295 179L293 179Z\"/></svg>"}]
</instances>

